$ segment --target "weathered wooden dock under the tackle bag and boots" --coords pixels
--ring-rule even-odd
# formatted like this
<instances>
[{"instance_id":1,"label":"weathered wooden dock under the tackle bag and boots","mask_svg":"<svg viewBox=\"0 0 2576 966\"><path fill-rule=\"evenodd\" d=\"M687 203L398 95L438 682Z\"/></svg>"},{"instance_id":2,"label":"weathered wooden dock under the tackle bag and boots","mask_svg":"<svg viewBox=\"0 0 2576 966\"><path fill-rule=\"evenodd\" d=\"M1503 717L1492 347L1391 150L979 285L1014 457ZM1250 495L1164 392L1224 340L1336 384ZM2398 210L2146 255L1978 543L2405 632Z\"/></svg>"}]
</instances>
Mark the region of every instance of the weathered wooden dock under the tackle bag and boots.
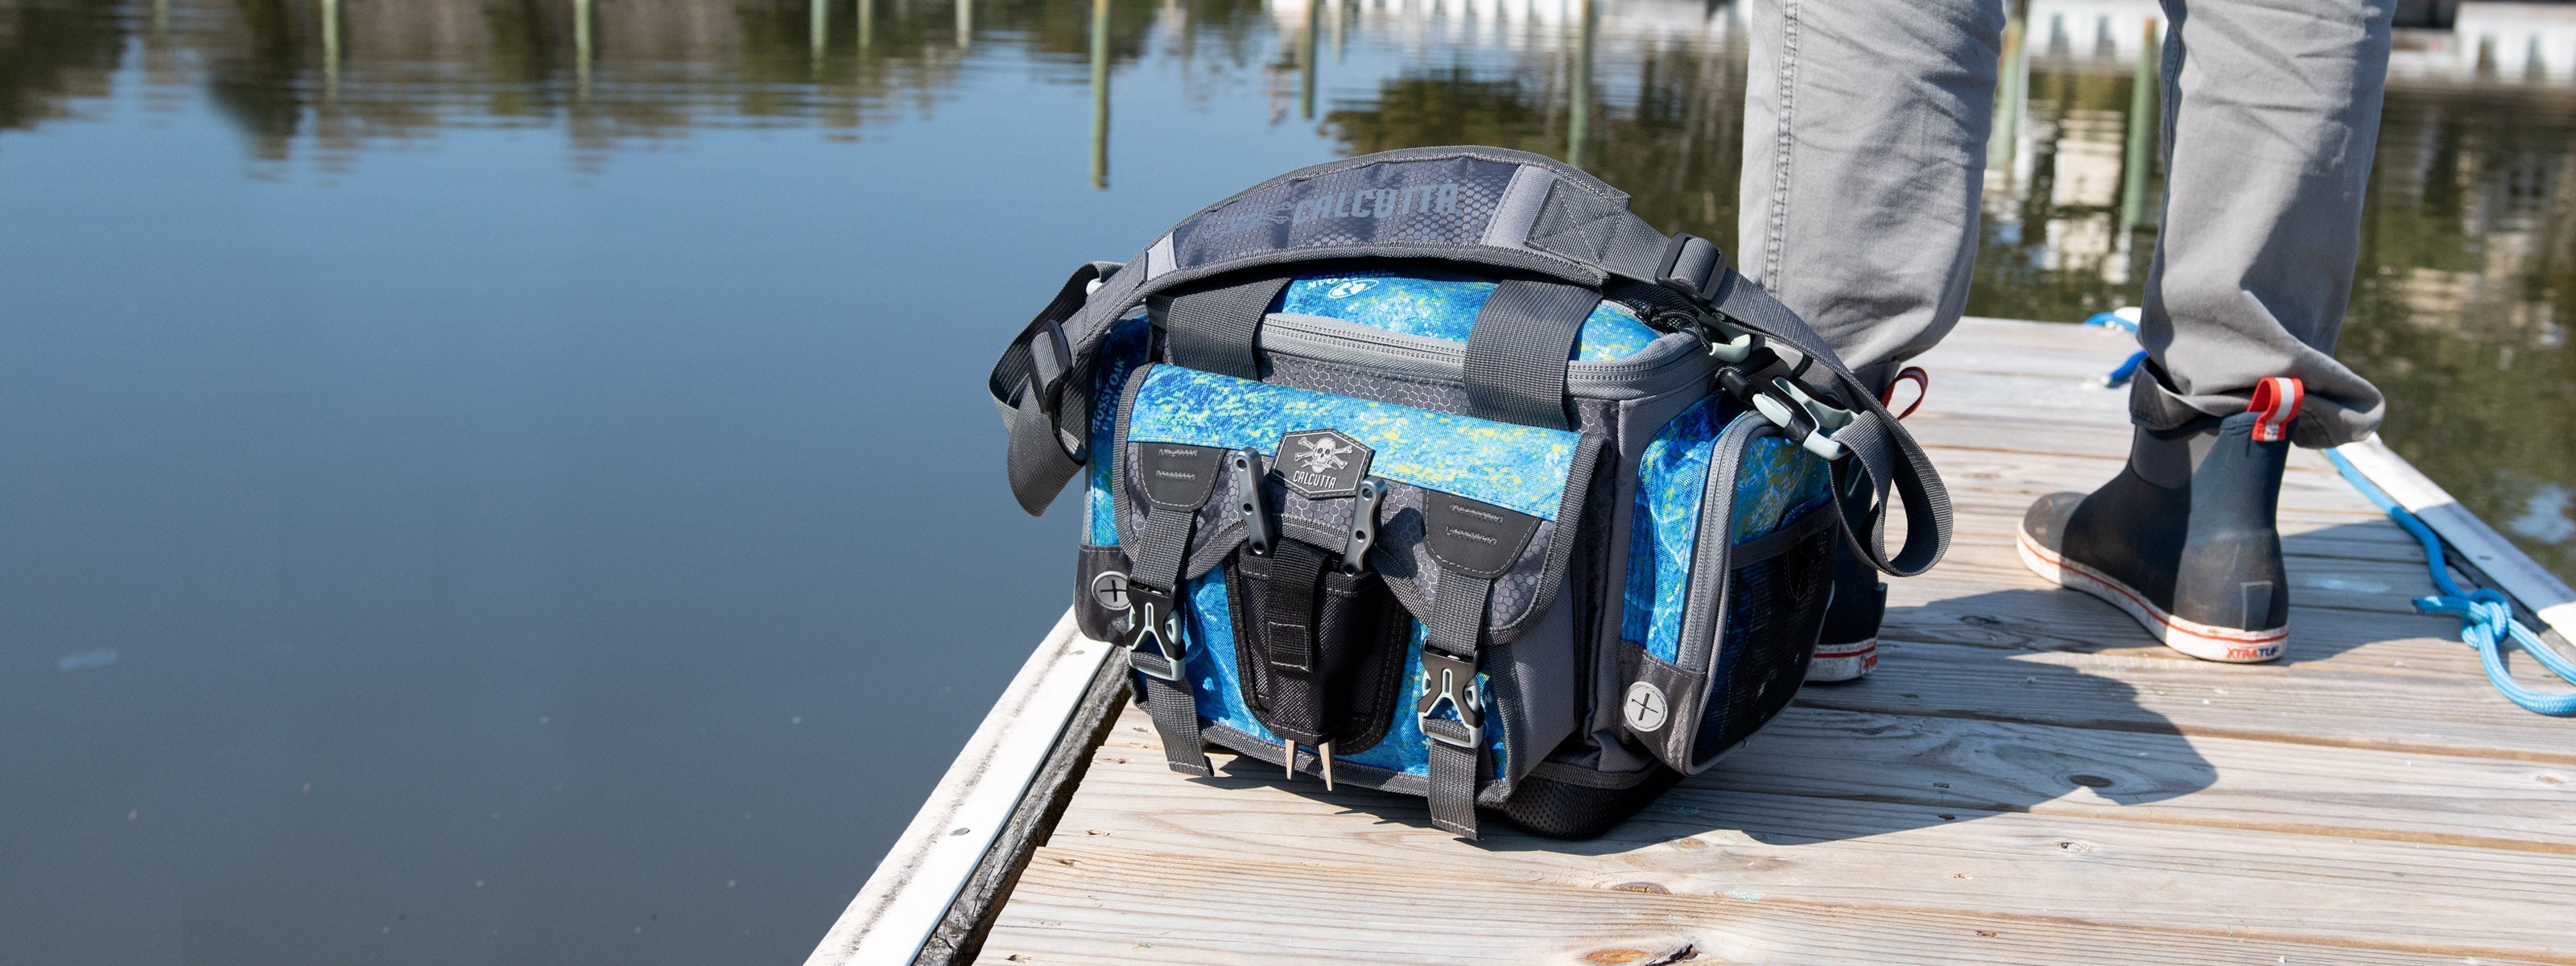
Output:
<instances>
[{"instance_id":1,"label":"weathered wooden dock under the tackle bag and boots","mask_svg":"<svg viewBox=\"0 0 2576 966\"><path fill-rule=\"evenodd\" d=\"M2298 451L2282 492L2282 662L2195 662L2022 569L2022 507L2120 466L2125 392L2097 379L2130 348L1971 319L1922 358L1909 425L1958 541L1893 582L1878 672L1806 688L1600 840L1463 842L1419 799L1257 762L1190 781L1123 708L1087 770L1059 768L1072 788L1012 791L1025 871L969 886L933 945L981 920L979 963L1038 966L2576 963L2576 721L2506 703L2458 621L2414 613L2424 554L2324 456ZM1064 732L1066 757L1097 734ZM984 866L1010 866L994 835ZM896 961L866 933L845 917L817 963Z\"/></svg>"}]
</instances>

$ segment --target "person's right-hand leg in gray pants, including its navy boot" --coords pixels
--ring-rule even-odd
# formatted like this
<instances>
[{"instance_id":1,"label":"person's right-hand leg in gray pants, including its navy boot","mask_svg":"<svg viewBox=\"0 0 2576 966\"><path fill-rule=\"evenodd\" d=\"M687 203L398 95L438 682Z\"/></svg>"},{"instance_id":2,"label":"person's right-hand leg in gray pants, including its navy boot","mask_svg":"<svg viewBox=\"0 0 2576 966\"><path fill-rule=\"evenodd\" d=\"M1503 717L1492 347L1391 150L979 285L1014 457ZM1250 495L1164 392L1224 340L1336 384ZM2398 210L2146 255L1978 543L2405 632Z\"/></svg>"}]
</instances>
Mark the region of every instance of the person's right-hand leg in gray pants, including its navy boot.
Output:
<instances>
[{"instance_id":1,"label":"person's right-hand leg in gray pants, including its navy boot","mask_svg":"<svg viewBox=\"0 0 2576 966\"><path fill-rule=\"evenodd\" d=\"M2192 657L2285 654L2275 523L2293 438L2367 435L2378 389L2326 355L2360 250L2393 0L2166 0L2166 201L2128 466L2022 515L2030 569Z\"/></svg>"}]
</instances>

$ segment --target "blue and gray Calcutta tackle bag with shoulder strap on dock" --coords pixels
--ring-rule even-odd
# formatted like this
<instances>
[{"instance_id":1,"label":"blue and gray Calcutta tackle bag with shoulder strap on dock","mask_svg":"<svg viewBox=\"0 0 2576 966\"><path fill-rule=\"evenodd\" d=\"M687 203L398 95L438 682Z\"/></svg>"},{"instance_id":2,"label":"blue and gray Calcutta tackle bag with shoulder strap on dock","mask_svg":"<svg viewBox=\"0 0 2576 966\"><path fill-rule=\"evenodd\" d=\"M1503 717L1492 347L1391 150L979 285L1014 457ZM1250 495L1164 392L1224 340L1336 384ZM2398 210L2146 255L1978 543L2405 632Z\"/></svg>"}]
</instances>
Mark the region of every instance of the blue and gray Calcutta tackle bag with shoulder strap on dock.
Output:
<instances>
[{"instance_id":1,"label":"blue and gray Calcutta tackle bag with shoulder strap on dock","mask_svg":"<svg viewBox=\"0 0 2576 966\"><path fill-rule=\"evenodd\" d=\"M1592 837L1795 696L1834 541L1950 538L1896 417L1716 245L1548 157L1303 167L1092 263L989 392L1172 770L1206 744ZM1904 541L1888 554L1888 500Z\"/></svg>"}]
</instances>

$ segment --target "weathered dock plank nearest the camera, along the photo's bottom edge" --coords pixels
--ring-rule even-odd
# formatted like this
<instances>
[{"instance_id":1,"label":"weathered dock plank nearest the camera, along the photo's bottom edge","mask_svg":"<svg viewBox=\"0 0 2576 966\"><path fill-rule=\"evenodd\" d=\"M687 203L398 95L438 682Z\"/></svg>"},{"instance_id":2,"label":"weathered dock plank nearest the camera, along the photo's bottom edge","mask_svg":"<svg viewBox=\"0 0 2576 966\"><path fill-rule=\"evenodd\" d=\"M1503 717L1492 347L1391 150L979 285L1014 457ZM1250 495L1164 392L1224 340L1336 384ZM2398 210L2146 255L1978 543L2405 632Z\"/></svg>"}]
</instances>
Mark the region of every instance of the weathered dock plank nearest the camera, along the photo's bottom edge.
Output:
<instances>
[{"instance_id":1,"label":"weathered dock plank nearest the camera, along the photo's bottom edge","mask_svg":"<svg viewBox=\"0 0 2576 966\"><path fill-rule=\"evenodd\" d=\"M1569 889L1510 876L1427 894L1383 868L1252 855L1172 866L1167 855L1074 842L1033 863L1015 917L987 945L992 963L2349 963L2434 966L2421 948L2295 943L2200 925L2136 930L2038 914L1868 909L1747 896ZM1633 884L1631 889L1651 889ZM1131 902L1139 891L1185 904ZM1368 917L1321 927L1316 909L1370 902ZM2478 963L2532 963L2483 956Z\"/></svg>"}]
</instances>

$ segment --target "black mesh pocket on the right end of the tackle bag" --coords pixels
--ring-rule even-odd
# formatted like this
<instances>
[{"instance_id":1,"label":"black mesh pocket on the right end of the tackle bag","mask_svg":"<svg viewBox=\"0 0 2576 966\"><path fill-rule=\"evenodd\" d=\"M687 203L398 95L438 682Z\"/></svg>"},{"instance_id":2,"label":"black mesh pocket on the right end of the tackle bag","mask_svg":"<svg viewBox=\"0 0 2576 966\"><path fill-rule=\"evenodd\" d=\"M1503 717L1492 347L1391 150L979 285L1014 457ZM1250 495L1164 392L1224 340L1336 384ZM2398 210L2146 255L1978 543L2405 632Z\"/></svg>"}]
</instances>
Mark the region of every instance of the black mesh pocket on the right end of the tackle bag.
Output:
<instances>
[{"instance_id":1,"label":"black mesh pocket on the right end of the tackle bag","mask_svg":"<svg viewBox=\"0 0 2576 966\"><path fill-rule=\"evenodd\" d=\"M1692 739L1703 762L1752 737L1798 696L1834 587L1834 538L1837 531L1824 528L1777 556L1736 569L1726 592L1716 698Z\"/></svg>"}]
</instances>

